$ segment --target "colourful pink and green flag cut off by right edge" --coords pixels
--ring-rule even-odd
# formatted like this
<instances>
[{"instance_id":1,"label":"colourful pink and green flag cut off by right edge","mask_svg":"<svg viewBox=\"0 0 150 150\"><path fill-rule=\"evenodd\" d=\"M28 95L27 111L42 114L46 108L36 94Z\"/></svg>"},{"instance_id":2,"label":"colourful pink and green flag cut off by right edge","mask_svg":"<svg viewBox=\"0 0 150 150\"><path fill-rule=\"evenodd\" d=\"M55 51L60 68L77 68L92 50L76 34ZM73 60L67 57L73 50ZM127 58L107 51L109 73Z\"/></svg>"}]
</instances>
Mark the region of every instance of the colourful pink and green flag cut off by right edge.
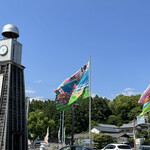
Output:
<instances>
[{"instance_id":1,"label":"colourful pink and green flag cut off by right edge","mask_svg":"<svg viewBox=\"0 0 150 150\"><path fill-rule=\"evenodd\" d=\"M142 113L139 115L139 118L141 118L145 113L150 111L150 85L141 95L139 103L143 104Z\"/></svg>"}]
</instances>

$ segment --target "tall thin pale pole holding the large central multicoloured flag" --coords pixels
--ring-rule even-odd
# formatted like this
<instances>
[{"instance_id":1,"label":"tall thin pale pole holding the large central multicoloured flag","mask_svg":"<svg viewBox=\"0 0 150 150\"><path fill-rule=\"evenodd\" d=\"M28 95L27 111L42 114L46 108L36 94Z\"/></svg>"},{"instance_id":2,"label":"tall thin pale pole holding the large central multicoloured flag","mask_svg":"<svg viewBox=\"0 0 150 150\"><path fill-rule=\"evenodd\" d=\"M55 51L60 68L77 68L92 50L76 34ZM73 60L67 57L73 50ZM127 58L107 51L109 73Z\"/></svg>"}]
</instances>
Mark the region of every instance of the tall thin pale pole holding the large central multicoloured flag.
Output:
<instances>
[{"instance_id":1,"label":"tall thin pale pole holding the large central multicoloured flag","mask_svg":"<svg viewBox=\"0 0 150 150\"><path fill-rule=\"evenodd\" d=\"M89 60L89 147L92 147L92 140L91 140L91 56Z\"/></svg>"}]
</instances>

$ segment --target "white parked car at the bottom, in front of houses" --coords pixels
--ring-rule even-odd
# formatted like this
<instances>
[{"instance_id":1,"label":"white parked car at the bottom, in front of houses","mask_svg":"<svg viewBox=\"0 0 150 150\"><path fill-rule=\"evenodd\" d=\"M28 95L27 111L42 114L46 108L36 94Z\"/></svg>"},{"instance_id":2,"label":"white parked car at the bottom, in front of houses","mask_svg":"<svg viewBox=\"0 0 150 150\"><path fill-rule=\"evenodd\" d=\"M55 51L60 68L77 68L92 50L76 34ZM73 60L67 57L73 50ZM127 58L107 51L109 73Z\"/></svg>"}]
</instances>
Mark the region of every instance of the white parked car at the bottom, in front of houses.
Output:
<instances>
[{"instance_id":1,"label":"white parked car at the bottom, in front of houses","mask_svg":"<svg viewBox=\"0 0 150 150\"><path fill-rule=\"evenodd\" d=\"M127 144L108 144L101 150L132 150L130 145Z\"/></svg>"}]
</instances>

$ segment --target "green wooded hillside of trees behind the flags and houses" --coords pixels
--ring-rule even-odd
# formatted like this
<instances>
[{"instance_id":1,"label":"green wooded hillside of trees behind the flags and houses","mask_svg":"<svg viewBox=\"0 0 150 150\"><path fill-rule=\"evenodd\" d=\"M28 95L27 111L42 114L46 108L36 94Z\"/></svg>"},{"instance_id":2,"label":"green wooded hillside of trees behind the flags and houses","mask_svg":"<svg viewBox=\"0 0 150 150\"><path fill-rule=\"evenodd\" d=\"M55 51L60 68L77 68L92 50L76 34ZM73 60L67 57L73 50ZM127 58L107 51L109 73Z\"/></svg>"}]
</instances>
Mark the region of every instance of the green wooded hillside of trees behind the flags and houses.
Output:
<instances>
[{"instance_id":1,"label":"green wooded hillside of trees behind the flags and houses","mask_svg":"<svg viewBox=\"0 0 150 150\"><path fill-rule=\"evenodd\" d=\"M113 101L107 98L92 98L91 120L92 126L99 123L121 126L123 123L132 121L142 111L142 104L138 103L140 95L124 96L119 95ZM88 131L89 125L89 99L78 102L75 106L75 133ZM56 109L55 101L32 100L29 107L28 133L30 139L38 135L44 137L47 127L50 127L50 137L57 137L60 126L60 111ZM72 109L65 111L64 120L66 135L72 130Z\"/></svg>"}]
</instances>

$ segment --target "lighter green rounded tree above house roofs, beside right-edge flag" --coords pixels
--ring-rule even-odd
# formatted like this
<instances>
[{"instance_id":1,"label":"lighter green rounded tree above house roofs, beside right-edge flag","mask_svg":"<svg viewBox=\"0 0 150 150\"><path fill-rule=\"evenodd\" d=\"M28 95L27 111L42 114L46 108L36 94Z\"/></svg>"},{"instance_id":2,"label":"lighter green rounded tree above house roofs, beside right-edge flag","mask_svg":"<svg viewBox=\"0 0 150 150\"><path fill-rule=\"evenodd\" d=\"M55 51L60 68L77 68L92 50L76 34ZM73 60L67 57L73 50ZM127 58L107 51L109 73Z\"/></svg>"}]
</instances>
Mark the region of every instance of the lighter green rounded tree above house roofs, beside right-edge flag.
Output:
<instances>
[{"instance_id":1,"label":"lighter green rounded tree above house roofs, beside right-edge flag","mask_svg":"<svg viewBox=\"0 0 150 150\"><path fill-rule=\"evenodd\" d=\"M113 115L116 116L116 118L113 117L113 122L115 123L115 125L120 126L123 123L129 123L139 115L139 112L142 108L142 105L138 103L139 98L140 95L119 95L108 104ZM114 119L116 119L116 121ZM108 122L111 121L112 118L109 118Z\"/></svg>"}]
</instances>

